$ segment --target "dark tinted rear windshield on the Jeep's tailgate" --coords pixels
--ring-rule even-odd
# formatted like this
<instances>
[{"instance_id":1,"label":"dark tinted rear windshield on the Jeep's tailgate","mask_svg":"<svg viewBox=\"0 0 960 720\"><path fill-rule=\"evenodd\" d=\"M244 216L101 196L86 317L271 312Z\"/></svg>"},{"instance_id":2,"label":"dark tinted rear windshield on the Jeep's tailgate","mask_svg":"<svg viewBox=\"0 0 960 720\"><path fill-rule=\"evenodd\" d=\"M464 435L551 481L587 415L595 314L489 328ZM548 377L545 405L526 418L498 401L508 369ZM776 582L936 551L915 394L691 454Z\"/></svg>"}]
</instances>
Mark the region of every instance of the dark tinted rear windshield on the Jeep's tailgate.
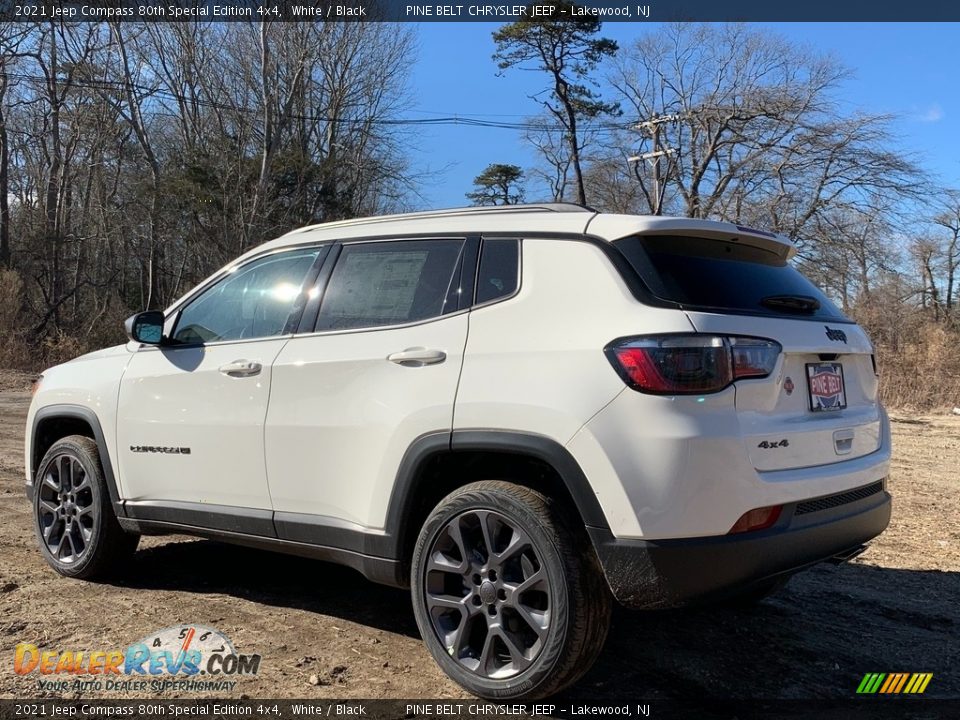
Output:
<instances>
[{"instance_id":1,"label":"dark tinted rear windshield on the Jeep's tailgate","mask_svg":"<svg viewBox=\"0 0 960 720\"><path fill-rule=\"evenodd\" d=\"M629 237L614 246L650 292L684 308L849 322L796 268L761 248L679 235ZM775 297L815 298L820 307L791 311L763 303Z\"/></svg>"}]
</instances>

